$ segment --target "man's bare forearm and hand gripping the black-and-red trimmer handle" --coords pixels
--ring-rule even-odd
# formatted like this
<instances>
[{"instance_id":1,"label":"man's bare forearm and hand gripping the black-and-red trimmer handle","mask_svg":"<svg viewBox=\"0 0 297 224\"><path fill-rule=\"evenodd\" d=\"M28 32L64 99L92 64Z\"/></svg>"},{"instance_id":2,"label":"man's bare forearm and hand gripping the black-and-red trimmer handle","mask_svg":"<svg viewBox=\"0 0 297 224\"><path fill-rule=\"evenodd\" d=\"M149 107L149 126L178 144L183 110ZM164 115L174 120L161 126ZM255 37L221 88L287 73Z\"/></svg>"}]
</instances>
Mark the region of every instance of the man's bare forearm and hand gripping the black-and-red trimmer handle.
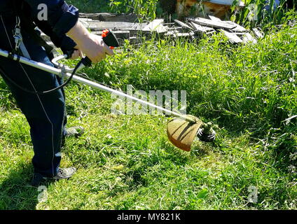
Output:
<instances>
[{"instance_id":1,"label":"man's bare forearm and hand gripping the black-and-red trimmer handle","mask_svg":"<svg viewBox=\"0 0 297 224\"><path fill-rule=\"evenodd\" d=\"M90 34L81 22L77 22L67 35L76 42L76 48L88 56L93 63L101 62L106 55L113 55L113 50L104 43L102 37Z\"/></svg>"}]
</instances>

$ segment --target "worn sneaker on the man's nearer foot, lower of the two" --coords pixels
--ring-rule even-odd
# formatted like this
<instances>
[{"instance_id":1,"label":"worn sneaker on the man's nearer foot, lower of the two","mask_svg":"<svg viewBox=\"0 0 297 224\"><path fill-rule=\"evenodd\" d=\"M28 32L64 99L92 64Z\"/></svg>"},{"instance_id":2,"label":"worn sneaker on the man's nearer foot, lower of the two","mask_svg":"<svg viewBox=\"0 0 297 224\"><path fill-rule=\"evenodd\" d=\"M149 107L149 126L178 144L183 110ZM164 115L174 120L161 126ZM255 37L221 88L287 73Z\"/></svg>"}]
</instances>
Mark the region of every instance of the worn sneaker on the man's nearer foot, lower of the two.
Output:
<instances>
[{"instance_id":1,"label":"worn sneaker on the man's nearer foot, lower of the two","mask_svg":"<svg viewBox=\"0 0 297 224\"><path fill-rule=\"evenodd\" d=\"M61 180L61 179L69 179L73 174L76 173L76 168L70 167L70 168L58 168L57 175L54 177L46 177L42 176L39 173L35 173L33 176L33 179L31 181L31 185L34 187L38 187L41 185L43 181L48 180Z\"/></svg>"}]
</instances>

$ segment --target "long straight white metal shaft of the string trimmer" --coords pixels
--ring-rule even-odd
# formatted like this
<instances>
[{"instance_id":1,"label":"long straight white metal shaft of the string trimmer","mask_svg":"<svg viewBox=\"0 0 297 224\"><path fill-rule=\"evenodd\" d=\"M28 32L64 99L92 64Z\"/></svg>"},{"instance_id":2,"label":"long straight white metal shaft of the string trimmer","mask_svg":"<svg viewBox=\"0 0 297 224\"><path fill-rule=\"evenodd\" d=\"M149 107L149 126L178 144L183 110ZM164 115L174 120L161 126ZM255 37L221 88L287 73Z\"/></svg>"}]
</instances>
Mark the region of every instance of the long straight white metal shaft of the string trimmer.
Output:
<instances>
[{"instance_id":1,"label":"long straight white metal shaft of the string trimmer","mask_svg":"<svg viewBox=\"0 0 297 224\"><path fill-rule=\"evenodd\" d=\"M8 57L8 52L6 50L1 50L0 49L0 55L3 56L3 57ZM16 60L17 58L18 58L17 55L14 55L13 56L13 59L14 60ZM35 61L31 60L31 59L27 59L26 57L20 57L20 62L22 64L27 64L29 66L33 66L36 69L41 69L41 70L47 71L49 73L54 73L57 76L62 76L61 69L56 69L53 66L48 66L47 64L43 64L41 62L35 62ZM70 77L71 76L71 73L65 73L64 75L67 76L67 77ZM139 102L139 103L144 104L146 106L151 106L151 107L153 107L155 109L158 109L160 111L163 111L163 113L170 113L174 117L187 120L188 122L191 122L191 123L193 123L193 122L195 123L195 120L192 119L192 118L189 118L188 116L182 115L182 114L177 113L177 112L174 112L174 111L170 111L170 110L164 109L161 106L157 106L155 104L151 104L151 103L146 102L144 100L141 100L141 99L139 99L137 97L133 97L133 96L131 96L129 94L125 94L125 93L123 93L123 92L121 92L119 90L113 90L113 89L111 89L109 87L106 87L106 86L101 85L99 83L92 82L91 80L82 78L80 76L73 76L72 80L76 81L77 83L82 83L82 84L85 84L85 85L89 85L91 87L95 87L96 89L103 90L104 92L110 92L110 93L116 94L116 95L121 96L121 97L127 97L127 99L132 99L135 102Z\"/></svg>"}]
</instances>

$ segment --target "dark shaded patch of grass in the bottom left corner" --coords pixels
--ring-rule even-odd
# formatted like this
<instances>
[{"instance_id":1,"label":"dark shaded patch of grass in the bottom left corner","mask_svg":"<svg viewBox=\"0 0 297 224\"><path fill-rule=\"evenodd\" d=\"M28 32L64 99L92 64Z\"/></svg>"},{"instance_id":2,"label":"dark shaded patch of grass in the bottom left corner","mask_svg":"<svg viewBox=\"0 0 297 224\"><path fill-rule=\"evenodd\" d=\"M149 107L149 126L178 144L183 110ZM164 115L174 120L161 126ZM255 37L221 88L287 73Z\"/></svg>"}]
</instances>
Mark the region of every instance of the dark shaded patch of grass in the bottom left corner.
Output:
<instances>
[{"instance_id":1,"label":"dark shaded patch of grass in the bottom left corner","mask_svg":"<svg viewBox=\"0 0 297 224\"><path fill-rule=\"evenodd\" d=\"M32 178L32 165L13 169L0 183L1 210L34 210L38 204L38 188L29 185Z\"/></svg>"}]
</instances>

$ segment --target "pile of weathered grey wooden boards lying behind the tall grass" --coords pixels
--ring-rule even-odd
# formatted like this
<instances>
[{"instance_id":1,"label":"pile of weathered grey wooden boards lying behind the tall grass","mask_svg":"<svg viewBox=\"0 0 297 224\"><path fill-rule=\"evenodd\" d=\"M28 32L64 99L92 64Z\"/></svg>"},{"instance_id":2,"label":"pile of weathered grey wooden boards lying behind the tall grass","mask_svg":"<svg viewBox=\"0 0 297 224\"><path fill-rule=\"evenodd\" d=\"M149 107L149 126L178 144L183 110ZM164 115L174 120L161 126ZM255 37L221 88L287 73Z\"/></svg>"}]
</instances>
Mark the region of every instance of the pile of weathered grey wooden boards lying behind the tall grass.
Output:
<instances>
[{"instance_id":1,"label":"pile of weathered grey wooden boards lying behind the tall grass","mask_svg":"<svg viewBox=\"0 0 297 224\"><path fill-rule=\"evenodd\" d=\"M120 45L123 45L125 40L131 44L141 44L153 34L158 34L159 38L199 39L205 35L222 32L231 43L256 43L257 38L263 37L260 29L249 31L235 22L222 21L212 15L209 15L209 19L186 18L184 22L174 20L165 23L163 19L138 22L137 16L133 14L81 13L80 21L93 34L100 35L104 29L112 29ZM50 42L49 39L48 41Z\"/></svg>"}]
</instances>

